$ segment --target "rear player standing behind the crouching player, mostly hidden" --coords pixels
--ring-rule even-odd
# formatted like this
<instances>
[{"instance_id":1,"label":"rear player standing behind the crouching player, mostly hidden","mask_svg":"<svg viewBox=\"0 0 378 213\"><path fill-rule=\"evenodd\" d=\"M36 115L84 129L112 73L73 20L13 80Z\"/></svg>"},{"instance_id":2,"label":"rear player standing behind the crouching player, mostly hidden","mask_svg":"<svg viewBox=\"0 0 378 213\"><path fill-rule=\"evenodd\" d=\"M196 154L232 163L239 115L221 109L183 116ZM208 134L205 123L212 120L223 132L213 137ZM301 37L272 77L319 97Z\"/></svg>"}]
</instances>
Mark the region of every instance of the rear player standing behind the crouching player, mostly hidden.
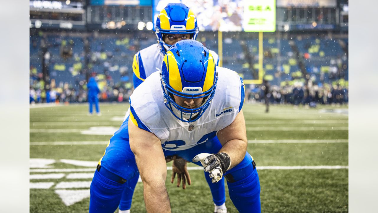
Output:
<instances>
[{"instance_id":1,"label":"rear player standing behind the crouching player, mostly hidden","mask_svg":"<svg viewBox=\"0 0 378 213\"><path fill-rule=\"evenodd\" d=\"M140 50L135 54L133 59L133 83L134 88L138 87L149 75L156 72L163 62L164 54L176 42L184 39L195 40L198 35L197 19L194 13L186 5L182 3L169 3L159 14L156 19L155 34L157 37L157 44L150 45L149 47ZM218 54L210 50L216 65L218 66ZM183 158L176 158L170 156L166 158L166 162L171 160L172 164L172 178L171 183L174 182L175 175L177 174L177 186L180 186L181 180L183 181L183 189L186 188L187 183L191 184L189 172L186 168L186 161ZM132 183L136 184L139 175L134 177ZM209 183L211 193L214 201L215 213L226 213L227 208L225 205L225 182L211 183L211 179L206 175L205 177ZM134 186L127 187L122 195L119 204L119 213L128 213L131 208L131 200L133 196Z\"/></svg>"}]
</instances>

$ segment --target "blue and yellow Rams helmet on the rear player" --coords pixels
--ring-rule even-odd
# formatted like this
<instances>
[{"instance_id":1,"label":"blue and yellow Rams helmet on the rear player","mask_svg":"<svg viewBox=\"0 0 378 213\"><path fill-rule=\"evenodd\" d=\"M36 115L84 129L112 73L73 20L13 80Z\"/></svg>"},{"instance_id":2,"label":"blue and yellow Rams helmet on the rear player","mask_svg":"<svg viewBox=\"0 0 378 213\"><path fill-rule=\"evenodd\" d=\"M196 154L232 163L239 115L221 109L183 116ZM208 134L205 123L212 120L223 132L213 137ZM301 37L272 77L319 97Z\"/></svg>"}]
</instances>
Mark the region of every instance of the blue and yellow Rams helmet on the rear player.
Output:
<instances>
[{"instance_id":1,"label":"blue and yellow Rams helmet on the rear player","mask_svg":"<svg viewBox=\"0 0 378 213\"><path fill-rule=\"evenodd\" d=\"M198 32L197 18L183 3L169 3L156 19L155 34L164 54L172 45L164 42L163 34L191 34L195 40Z\"/></svg>"}]
</instances>

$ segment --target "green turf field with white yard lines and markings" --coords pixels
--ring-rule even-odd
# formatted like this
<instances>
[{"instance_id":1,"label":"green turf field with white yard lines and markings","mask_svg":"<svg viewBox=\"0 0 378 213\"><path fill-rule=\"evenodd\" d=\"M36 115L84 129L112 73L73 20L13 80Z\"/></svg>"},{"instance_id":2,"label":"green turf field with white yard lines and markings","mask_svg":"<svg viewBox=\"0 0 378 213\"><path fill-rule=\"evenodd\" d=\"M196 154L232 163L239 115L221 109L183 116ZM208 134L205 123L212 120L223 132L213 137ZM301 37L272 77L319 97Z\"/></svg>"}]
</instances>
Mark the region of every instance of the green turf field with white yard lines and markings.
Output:
<instances>
[{"instance_id":1,"label":"green turf field with white yard lines and markings","mask_svg":"<svg viewBox=\"0 0 378 213\"><path fill-rule=\"evenodd\" d=\"M30 212L88 212L96 161L128 104L101 104L101 117L87 116L87 108L30 109ZM336 113L347 108L280 105L264 110L257 104L243 107L262 212L348 212L348 114ZM214 206L203 171L188 166L192 185L186 190L171 184L167 171L172 212L210 213ZM237 212L227 189L226 197L229 212ZM138 183L131 211L143 213L144 208L143 184Z\"/></svg>"}]
</instances>

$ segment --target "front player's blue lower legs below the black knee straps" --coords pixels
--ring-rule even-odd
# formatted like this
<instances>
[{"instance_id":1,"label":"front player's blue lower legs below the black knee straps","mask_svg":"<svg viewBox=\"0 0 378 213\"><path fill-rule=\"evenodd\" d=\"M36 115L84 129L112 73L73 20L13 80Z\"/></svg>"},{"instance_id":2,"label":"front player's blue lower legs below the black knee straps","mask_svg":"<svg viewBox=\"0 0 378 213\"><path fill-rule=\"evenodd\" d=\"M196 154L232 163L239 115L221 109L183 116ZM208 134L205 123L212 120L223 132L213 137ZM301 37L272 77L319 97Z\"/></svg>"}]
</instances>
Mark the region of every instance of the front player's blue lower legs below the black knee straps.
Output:
<instances>
[{"instance_id":1,"label":"front player's blue lower legs below the black knee straps","mask_svg":"<svg viewBox=\"0 0 378 213\"><path fill-rule=\"evenodd\" d=\"M251 169L252 173L250 172ZM250 163L245 168L234 172L226 172L227 175L235 173L239 173L238 177L244 178L240 180L235 179L235 182L232 183L227 182L232 203L240 213L260 213L260 182L259 175L256 169L253 168L253 164ZM124 191L128 191L129 193L126 193L126 195L131 195L130 197L132 198L135 184L138 181L138 176L135 175L135 177L121 184L107 179L96 171L91 183L89 212L113 213L118 205L124 205L125 208L130 209L131 199L125 199L121 202L121 197Z\"/></svg>"}]
</instances>

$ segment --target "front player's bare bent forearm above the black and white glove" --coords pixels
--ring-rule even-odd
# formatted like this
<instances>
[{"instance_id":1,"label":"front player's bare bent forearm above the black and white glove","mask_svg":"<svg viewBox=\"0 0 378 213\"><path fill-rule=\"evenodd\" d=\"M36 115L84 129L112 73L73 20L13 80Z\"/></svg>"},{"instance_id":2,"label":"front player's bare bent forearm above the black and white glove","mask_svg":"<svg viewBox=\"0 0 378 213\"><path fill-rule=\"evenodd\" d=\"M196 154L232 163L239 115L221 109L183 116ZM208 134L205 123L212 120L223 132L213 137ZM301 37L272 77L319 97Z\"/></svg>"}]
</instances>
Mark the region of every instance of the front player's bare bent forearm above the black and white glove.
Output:
<instances>
[{"instance_id":1,"label":"front player's bare bent forearm above the black and white glove","mask_svg":"<svg viewBox=\"0 0 378 213\"><path fill-rule=\"evenodd\" d=\"M229 167L229 169L231 169L243 160L246 151L247 141L233 139L225 143L218 153L224 152L228 154L231 159L231 165Z\"/></svg>"}]
</instances>

